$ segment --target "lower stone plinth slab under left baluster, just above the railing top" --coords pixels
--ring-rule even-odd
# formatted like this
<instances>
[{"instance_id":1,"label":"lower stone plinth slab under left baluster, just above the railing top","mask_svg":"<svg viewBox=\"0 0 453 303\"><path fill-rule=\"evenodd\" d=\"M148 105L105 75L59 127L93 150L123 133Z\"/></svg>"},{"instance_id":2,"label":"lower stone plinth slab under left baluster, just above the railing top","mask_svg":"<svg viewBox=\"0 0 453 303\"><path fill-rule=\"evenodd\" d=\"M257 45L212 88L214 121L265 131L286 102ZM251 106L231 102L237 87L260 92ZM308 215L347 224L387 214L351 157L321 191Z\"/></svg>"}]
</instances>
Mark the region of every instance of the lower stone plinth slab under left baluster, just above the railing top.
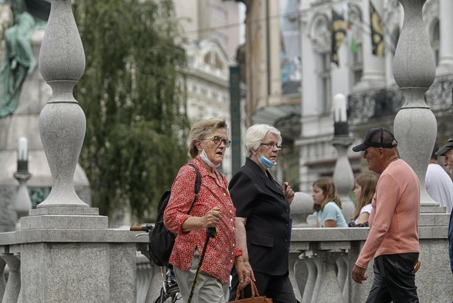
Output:
<instances>
[{"instance_id":1,"label":"lower stone plinth slab under left baluster, just above the railing top","mask_svg":"<svg viewBox=\"0 0 453 303\"><path fill-rule=\"evenodd\" d=\"M106 216L42 215L21 218L21 229L107 229Z\"/></svg>"}]
</instances>

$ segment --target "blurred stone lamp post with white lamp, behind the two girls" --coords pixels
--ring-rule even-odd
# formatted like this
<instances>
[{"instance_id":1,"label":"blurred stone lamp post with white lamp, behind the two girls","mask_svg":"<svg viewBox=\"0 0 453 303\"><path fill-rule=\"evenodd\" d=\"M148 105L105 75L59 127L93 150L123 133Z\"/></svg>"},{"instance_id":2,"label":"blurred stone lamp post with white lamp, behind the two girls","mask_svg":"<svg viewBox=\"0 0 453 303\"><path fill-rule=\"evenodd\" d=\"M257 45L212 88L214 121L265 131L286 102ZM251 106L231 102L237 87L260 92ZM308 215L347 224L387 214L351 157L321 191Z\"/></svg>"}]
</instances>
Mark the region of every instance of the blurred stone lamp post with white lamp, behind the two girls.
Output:
<instances>
[{"instance_id":1,"label":"blurred stone lamp post with white lamp, behind the two girls","mask_svg":"<svg viewBox=\"0 0 453 303\"><path fill-rule=\"evenodd\" d=\"M334 138L331 144L338 150L338 157L334 168L334 183L340 195L342 214L346 221L352 218L356 206L349 198L349 192L354 187L354 175L351 163L347 157L347 150L353 143L353 137L349 136L347 124L346 98L342 93L334 97Z\"/></svg>"}]
</instances>

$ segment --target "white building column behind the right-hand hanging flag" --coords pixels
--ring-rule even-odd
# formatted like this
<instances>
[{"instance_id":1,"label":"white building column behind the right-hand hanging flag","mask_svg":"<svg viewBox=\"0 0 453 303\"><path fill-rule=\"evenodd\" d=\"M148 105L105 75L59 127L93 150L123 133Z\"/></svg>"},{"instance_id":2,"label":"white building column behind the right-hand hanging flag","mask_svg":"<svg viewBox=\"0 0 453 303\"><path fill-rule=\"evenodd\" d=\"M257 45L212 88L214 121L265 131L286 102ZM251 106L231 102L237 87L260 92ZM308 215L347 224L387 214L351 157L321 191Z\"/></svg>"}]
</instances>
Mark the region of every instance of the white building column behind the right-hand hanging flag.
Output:
<instances>
[{"instance_id":1,"label":"white building column behind the right-hand hanging flag","mask_svg":"<svg viewBox=\"0 0 453 303\"><path fill-rule=\"evenodd\" d=\"M382 18L382 0L373 1ZM369 0L362 0L363 23L370 24ZM369 89L385 85L384 57L373 56L370 30L362 31L363 76L355 89ZM371 55L370 55L371 54Z\"/></svg>"}]
</instances>

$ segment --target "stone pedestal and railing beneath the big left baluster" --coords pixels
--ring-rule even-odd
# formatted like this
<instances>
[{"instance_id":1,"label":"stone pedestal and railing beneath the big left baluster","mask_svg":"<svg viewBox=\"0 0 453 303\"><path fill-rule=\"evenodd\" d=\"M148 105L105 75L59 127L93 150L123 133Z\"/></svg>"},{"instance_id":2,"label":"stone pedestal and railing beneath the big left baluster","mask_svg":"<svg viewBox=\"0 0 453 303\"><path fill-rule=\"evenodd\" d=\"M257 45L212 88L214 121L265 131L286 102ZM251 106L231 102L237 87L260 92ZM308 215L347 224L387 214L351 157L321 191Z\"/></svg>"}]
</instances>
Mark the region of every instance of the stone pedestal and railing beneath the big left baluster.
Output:
<instances>
[{"instance_id":1,"label":"stone pedestal and railing beneath the big left baluster","mask_svg":"<svg viewBox=\"0 0 453 303\"><path fill-rule=\"evenodd\" d=\"M114 229L1 233L0 302L135 303L136 240L135 233ZM49 264L58 271L47 270Z\"/></svg>"}]
</instances>

